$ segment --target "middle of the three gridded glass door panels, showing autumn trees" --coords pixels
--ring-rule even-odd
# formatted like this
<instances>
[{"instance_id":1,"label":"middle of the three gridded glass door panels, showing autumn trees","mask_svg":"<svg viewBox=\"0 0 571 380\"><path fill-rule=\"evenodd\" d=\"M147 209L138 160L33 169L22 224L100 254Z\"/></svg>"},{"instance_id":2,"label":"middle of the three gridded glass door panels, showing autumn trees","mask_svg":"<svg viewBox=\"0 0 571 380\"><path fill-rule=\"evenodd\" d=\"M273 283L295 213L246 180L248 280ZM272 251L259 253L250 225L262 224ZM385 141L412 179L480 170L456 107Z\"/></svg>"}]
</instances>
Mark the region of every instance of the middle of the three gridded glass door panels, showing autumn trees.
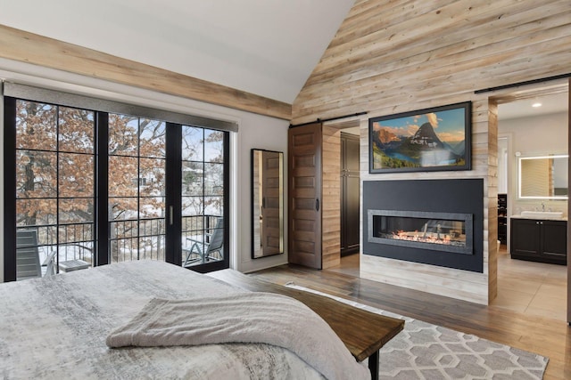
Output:
<instances>
[{"instance_id":1,"label":"middle of the three gridded glass door panels, showing autumn trees","mask_svg":"<svg viewBox=\"0 0 571 380\"><path fill-rule=\"evenodd\" d=\"M165 260L166 123L109 115L110 262Z\"/></svg>"}]
</instances>

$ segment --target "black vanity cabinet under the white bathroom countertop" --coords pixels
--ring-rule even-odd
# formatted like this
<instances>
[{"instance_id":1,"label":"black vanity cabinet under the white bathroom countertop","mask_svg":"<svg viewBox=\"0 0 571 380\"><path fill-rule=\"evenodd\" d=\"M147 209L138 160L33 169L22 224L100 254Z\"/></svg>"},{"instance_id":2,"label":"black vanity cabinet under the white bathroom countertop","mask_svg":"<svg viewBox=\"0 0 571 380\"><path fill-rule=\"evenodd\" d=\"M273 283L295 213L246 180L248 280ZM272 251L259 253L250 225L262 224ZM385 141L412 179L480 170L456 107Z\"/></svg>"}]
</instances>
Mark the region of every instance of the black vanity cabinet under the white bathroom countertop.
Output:
<instances>
[{"instance_id":1,"label":"black vanity cabinet under the white bathroom countertop","mask_svg":"<svg viewBox=\"0 0 571 380\"><path fill-rule=\"evenodd\" d=\"M567 263L567 221L511 218L513 259Z\"/></svg>"}]
</instances>

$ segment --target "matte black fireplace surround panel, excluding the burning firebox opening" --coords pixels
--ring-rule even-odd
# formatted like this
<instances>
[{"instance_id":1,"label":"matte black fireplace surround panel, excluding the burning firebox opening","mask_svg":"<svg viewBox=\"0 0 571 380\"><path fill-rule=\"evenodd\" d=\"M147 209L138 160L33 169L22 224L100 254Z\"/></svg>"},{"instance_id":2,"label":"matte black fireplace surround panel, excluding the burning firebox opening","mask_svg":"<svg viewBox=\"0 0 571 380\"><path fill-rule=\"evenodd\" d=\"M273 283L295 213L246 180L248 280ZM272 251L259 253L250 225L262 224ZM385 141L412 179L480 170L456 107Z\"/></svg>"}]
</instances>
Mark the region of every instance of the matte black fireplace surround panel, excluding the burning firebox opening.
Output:
<instances>
[{"instance_id":1,"label":"matte black fireplace surround panel, excluding the burning firebox opening","mask_svg":"<svg viewBox=\"0 0 571 380\"><path fill-rule=\"evenodd\" d=\"M426 263L464 271L484 271L484 180L403 180L363 182L363 255ZM396 242L372 236L372 214L459 215L469 222L463 250ZM466 232L465 230L462 230Z\"/></svg>"}]
</instances>

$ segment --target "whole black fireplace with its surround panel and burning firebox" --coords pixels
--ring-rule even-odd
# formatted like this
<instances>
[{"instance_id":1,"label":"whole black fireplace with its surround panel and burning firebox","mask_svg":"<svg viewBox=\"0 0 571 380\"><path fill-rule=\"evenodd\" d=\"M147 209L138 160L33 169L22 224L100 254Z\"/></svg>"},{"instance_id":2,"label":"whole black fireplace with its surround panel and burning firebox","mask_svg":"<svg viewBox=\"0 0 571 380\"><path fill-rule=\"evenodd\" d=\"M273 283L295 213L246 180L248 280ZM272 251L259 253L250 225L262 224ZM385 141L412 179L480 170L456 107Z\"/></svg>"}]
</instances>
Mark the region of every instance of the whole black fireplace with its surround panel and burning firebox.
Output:
<instances>
[{"instance_id":1,"label":"whole black fireplace with its surround panel and burning firebox","mask_svg":"<svg viewBox=\"0 0 571 380\"><path fill-rule=\"evenodd\" d=\"M363 255L484 271L482 179L363 182Z\"/></svg>"}]
</instances>

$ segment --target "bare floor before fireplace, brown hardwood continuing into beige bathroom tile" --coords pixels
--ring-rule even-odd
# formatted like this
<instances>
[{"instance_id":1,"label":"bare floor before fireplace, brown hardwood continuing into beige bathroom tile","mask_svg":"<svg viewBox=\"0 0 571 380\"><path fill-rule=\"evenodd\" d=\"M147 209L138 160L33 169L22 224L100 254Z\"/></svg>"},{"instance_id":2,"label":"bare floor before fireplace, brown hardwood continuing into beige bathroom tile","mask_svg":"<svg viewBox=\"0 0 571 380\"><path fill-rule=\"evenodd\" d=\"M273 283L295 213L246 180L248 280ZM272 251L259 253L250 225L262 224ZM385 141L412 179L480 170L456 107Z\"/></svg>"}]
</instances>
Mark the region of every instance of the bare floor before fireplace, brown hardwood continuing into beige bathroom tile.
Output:
<instances>
[{"instance_id":1,"label":"bare floor before fireplace, brown hardwood continuing into beige bathroom tile","mask_svg":"<svg viewBox=\"0 0 571 380\"><path fill-rule=\"evenodd\" d=\"M500 296L491 305L359 278L359 255L324 271L282 265L251 276L278 284L294 281L332 295L474 334L550 358L545 379L571 379L571 327L565 321L567 267L498 260Z\"/></svg>"}]
</instances>

